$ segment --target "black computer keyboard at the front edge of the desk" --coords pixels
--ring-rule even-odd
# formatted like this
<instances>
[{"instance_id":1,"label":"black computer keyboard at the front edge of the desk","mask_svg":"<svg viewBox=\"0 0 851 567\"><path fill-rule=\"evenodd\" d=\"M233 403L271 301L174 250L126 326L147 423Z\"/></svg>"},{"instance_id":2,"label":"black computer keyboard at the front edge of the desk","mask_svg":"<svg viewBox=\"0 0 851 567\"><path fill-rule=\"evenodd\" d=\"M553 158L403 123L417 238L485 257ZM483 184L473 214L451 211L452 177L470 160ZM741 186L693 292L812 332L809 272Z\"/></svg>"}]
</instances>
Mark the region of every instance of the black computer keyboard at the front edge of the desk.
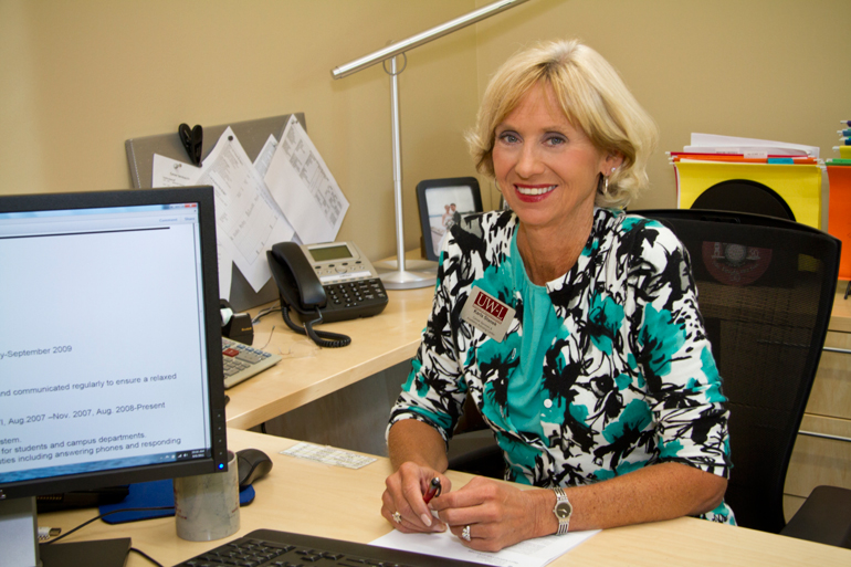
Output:
<instances>
[{"instance_id":1,"label":"black computer keyboard at the front edge of the desk","mask_svg":"<svg viewBox=\"0 0 851 567\"><path fill-rule=\"evenodd\" d=\"M255 529L176 567L481 567L367 544L274 529Z\"/></svg>"}]
</instances>

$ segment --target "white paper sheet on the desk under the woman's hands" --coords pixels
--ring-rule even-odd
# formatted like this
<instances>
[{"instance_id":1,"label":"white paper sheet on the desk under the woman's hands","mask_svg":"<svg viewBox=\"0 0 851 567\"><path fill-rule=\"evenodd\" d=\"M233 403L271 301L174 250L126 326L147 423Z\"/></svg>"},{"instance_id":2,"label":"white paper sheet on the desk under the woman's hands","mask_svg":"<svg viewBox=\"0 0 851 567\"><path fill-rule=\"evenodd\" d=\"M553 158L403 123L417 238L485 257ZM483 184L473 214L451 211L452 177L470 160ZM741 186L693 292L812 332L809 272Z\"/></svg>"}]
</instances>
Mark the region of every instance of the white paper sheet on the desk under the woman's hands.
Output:
<instances>
[{"instance_id":1,"label":"white paper sheet on the desk under the woman's hands","mask_svg":"<svg viewBox=\"0 0 851 567\"><path fill-rule=\"evenodd\" d=\"M543 567L566 554L592 535L600 532L570 532L563 536L547 536L527 539L496 553L476 552L461 545L451 532L442 534L402 534L393 529L389 534L370 542L369 545L389 547L403 552L460 559L462 561L500 565L504 567Z\"/></svg>"}]
</instances>

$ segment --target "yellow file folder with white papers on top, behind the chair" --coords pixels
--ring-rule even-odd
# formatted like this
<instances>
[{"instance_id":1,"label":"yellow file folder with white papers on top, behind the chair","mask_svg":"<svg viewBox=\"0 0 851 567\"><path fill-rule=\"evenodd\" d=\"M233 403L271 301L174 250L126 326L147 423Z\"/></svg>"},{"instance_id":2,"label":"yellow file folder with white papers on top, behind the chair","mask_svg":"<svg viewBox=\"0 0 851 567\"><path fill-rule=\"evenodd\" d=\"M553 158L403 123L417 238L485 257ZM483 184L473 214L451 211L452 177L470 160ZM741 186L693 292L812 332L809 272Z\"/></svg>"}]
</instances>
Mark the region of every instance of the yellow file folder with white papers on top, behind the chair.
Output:
<instances>
[{"instance_id":1,"label":"yellow file folder with white papers on top, behind the chair","mask_svg":"<svg viewBox=\"0 0 851 567\"><path fill-rule=\"evenodd\" d=\"M691 208L719 183L742 181L779 197L796 221L821 228L821 165L816 146L692 134L691 144L670 157L680 208Z\"/></svg>"}]
</instances>

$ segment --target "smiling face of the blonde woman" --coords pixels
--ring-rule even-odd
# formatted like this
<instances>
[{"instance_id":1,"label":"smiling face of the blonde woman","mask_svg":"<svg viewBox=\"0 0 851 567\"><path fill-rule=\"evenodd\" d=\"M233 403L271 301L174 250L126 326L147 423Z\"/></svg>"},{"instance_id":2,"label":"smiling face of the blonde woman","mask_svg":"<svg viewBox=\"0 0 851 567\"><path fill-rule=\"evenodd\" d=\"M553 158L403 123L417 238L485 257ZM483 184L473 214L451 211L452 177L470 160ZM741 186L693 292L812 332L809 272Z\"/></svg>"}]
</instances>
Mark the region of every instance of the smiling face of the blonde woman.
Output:
<instances>
[{"instance_id":1,"label":"smiling face of the blonde woman","mask_svg":"<svg viewBox=\"0 0 851 567\"><path fill-rule=\"evenodd\" d=\"M571 126L551 90L542 85L526 93L494 134L496 182L526 229L588 222L599 175L621 161Z\"/></svg>"}]
</instances>

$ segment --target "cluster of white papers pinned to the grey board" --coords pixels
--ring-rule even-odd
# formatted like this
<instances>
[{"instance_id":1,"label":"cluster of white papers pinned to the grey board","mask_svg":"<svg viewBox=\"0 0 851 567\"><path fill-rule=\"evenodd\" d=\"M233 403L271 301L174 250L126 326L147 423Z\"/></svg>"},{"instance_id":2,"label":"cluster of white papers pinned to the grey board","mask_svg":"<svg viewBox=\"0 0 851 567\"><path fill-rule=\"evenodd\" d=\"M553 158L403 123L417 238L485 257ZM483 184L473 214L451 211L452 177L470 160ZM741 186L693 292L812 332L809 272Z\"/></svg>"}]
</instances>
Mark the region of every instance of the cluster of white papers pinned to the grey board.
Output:
<instances>
[{"instance_id":1,"label":"cluster of white papers pinned to the grey board","mask_svg":"<svg viewBox=\"0 0 851 567\"><path fill-rule=\"evenodd\" d=\"M154 154L153 187L214 188L223 298L230 295L231 264L259 292L271 279L265 251L272 244L334 241L348 210L343 191L295 116L282 139L270 136L253 164L230 127L201 167ZM275 183L273 195L264 177L275 161L277 174L270 177ZM291 219L298 219L300 233Z\"/></svg>"}]
</instances>

